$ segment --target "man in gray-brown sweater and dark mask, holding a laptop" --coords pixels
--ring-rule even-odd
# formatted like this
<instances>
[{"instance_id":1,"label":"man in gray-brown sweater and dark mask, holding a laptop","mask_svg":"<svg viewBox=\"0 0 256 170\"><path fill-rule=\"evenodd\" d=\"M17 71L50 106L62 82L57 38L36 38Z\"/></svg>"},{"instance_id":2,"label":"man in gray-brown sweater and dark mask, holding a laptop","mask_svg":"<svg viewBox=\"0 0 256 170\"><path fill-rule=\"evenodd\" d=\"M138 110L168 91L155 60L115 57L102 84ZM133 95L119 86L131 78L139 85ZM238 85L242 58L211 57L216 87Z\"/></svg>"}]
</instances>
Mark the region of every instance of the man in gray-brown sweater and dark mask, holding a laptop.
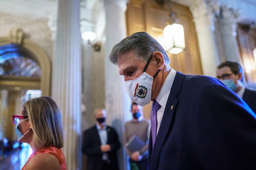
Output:
<instances>
[{"instance_id":1,"label":"man in gray-brown sweater and dark mask, holding a laptop","mask_svg":"<svg viewBox=\"0 0 256 170\"><path fill-rule=\"evenodd\" d=\"M133 135L136 135L143 142L145 146L139 151L130 151L126 147L126 153L130 156L130 165L131 167L138 167L139 170L148 169L148 140L150 133L150 123L149 121L143 119L142 116L142 107L137 103L131 105L131 113L133 114L133 119L125 123L125 131L123 134L124 145L130 140ZM137 166L136 166L137 165Z\"/></svg>"}]
</instances>

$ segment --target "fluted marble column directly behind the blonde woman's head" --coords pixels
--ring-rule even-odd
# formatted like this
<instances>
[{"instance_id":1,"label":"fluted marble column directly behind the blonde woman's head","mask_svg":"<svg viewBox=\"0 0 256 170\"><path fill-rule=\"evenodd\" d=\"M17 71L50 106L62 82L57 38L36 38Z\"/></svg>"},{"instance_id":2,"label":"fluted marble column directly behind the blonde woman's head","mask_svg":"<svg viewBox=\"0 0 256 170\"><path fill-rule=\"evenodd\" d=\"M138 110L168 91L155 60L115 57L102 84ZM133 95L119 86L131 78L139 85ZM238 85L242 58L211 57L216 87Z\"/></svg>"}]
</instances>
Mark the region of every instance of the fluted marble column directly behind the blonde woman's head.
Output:
<instances>
[{"instance_id":1,"label":"fluted marble column directly behind the blonde woman's head","mask_svg":"<svg viewBox=\"0 0 256 170\"><path fill-rule=\"evenodd\" d=\"M67 169L81 169L80 1L58 1L52 97L62 113Z\"/></svg>"}]
</instances>

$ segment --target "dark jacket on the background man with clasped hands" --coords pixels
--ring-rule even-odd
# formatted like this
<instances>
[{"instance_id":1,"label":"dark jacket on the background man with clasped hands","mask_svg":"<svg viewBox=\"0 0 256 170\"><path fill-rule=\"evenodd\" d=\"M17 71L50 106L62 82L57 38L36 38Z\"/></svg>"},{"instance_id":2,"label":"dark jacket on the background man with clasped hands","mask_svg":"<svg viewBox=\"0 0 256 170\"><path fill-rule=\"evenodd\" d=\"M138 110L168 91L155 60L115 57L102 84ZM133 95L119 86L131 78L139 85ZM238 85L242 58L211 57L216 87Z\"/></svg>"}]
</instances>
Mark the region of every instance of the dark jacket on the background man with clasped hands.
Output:
<instances>
[{"instance_id":1,"label":"dark jacket on the background man with clasped hands","mask_svg":"<svg viewBox=\"0 0 256 170\"><path fill-rule=\"evenodd\" d=\"M107 144L110 145L111 151L107 152L110 164L113 170L118 170L118 161L116 151L120 148L118 135L114 128L107 126ZM87 155L87 170L101 170L101 140L96 125L83 133L82 152Z\"/></svg>"}]
</instances>

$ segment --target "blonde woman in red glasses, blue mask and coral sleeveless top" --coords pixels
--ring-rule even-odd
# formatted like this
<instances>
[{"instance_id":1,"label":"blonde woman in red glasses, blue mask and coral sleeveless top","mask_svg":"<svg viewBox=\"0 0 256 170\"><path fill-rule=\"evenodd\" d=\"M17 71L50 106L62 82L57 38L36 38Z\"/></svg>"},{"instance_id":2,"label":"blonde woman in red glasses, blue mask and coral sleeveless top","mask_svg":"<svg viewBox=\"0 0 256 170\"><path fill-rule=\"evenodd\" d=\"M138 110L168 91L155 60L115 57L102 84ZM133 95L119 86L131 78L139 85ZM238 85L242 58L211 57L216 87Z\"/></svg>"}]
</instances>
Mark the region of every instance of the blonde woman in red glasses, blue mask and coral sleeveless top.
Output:
<instances>
[{"instance_id":1,"label":"blonde woman in red glasses, blue mask and coral sleeveless top","mask_svg":"<svg viewBox=\"0 0 256 170\"><path fill-rule=\"evenodd\" d=\"M29 143L33 154L22 170L64 170L61 113L50 97L38 97L25 102L18 116L13 116L18 141Z\"/></svg>"}]
</instances>

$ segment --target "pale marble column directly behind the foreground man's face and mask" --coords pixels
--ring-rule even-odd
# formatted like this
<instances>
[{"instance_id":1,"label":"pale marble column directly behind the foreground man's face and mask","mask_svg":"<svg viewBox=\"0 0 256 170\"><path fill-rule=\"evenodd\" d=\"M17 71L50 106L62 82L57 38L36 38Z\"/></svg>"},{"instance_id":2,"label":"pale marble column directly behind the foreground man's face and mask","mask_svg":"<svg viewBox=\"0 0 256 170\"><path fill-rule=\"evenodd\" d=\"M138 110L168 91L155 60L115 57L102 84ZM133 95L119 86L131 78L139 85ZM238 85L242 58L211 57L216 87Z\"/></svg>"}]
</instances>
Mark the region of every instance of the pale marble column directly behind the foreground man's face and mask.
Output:
<instances>
[{"instance_id":1,"label":"pale marble column directly behind the foreground man's face and mask","mask_svg":"<svg viewBox=\"0 0 256 170\"><path fill-rule=\"evenodd\" d=\"M106 57L105 57L105 107L107 111L107 124L117 130L119 140L122 142L124 122L131 117L129 99L124 79L119 75L118 66L110 63L109 53L113 46L127 36L125 11L126 0L104 0L106 12ZM120 169L127 169L125 150L119 150L118 159Z\"/></svg>"}]
</instances>

